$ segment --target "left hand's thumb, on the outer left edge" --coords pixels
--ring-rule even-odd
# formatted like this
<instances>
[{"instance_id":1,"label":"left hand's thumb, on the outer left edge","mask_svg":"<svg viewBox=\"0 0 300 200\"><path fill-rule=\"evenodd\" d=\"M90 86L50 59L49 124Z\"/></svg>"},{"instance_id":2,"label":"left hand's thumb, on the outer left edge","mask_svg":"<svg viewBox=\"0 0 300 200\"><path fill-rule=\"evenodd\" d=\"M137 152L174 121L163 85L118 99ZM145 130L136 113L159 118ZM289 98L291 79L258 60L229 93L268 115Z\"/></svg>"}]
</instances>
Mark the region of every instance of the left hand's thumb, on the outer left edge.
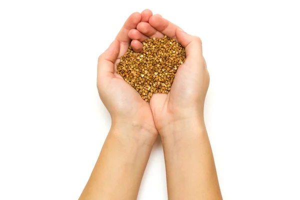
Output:
<instances>
[{"instance_id":1,"label":"left hand's thumb, on the outer left edge","mask_svg":"<svg viewBox=\"0 0 300 200\"><path fill-rule=\"evenodd\" d=\"M117 59L120 49L118 40L113 40L109 47L99 56L97 74L98 76L107 76L114 73L114 63Z\"/></svg>"}]
</instances>

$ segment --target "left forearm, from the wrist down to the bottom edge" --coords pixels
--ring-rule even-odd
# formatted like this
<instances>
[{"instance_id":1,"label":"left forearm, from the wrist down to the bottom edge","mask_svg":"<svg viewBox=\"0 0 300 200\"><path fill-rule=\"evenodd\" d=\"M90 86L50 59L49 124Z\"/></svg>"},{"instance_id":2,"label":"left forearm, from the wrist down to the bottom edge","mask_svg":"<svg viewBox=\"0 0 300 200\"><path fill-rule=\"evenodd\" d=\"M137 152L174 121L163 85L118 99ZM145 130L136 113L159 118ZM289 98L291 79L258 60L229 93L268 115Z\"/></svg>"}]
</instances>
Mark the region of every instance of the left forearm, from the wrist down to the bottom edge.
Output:
<instances>
[{"instance_id":1,"label":"left forearm, from the wrist down to the bottom edge","mask_svg":"<svg viewBox=\"0 0 300 200\"><path fill-rule=\"evenodd\" d=\"M138 127L112 125L79 199L136 199L155 141L145 134Z\"/></svg>"}]
</instances>

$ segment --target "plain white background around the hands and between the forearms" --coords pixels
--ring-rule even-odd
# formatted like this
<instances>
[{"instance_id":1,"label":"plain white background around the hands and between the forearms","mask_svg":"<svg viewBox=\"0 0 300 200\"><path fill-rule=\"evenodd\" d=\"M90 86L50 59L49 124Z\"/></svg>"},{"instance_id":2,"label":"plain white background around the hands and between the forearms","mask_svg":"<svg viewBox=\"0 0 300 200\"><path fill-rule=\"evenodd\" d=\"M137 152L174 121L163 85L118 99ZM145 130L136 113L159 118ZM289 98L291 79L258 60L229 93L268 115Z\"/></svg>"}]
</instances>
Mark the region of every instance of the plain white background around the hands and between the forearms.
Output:
<instances>
[{"instance_id":1,"label":"plain white background around the hands and between the forearms","mask_svg":"<svg viewBox=\"0 0 300 200\"><path fill-rule=\"evenodd\" d=\"M195 2L197 4L195 4ZM1 0L0 199L77 199L110 127L98 55L150 8L198 35L224 199L300 199L297 0ZM157 139L138 199L166 199Z\"/></svg>"}]
</instances>

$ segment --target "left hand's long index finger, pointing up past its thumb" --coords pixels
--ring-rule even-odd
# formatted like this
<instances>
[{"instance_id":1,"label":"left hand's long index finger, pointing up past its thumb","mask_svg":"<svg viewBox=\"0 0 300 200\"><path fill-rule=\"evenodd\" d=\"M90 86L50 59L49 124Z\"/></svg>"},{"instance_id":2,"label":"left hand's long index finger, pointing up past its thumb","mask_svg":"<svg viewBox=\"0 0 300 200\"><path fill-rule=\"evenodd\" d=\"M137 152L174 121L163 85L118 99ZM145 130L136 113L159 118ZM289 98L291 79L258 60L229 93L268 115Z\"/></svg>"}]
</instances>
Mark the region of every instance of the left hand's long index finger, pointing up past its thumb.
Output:
<instances>
[{"instance_id":1,"label":"left hand's long index finger, pointing up past its thumb","mask_svg":"<svg viewBox=\"0 0 300 200\"><path fill-rule=\"evenodd\" d=\"M139 12L132 13L125 21L123 27L120 29L115 39L120 43L120 51L118 57L122 56L128 49L130 44L130 38L128 37L128 32L132 28L136 28L136 25L140 22L141 15Z\"/></svg>"}]
</instances>

